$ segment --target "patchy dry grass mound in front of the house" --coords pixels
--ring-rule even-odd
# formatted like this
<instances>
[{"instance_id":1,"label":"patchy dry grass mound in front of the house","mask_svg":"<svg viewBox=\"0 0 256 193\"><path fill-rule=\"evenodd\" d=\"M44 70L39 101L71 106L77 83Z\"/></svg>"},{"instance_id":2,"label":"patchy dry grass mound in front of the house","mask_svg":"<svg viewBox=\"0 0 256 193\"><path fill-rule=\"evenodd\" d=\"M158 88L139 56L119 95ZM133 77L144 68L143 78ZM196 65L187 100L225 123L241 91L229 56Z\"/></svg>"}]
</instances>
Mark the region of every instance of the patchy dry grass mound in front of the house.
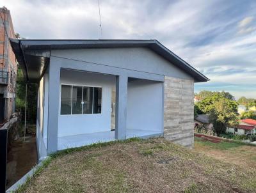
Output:
<instances>
[{"instance_id":1,"label":"patchy dry grass mound in front of the house","mask_svg":"<svg viewBox=\"0 0 256 193\"><path fill-rule=\"evenodd\" d=\"M208 146L196 139L196 150L188 150L159 138L62 151L19 192L256 192L256 167L198 147Z\"/></svg>"}]
</instances>

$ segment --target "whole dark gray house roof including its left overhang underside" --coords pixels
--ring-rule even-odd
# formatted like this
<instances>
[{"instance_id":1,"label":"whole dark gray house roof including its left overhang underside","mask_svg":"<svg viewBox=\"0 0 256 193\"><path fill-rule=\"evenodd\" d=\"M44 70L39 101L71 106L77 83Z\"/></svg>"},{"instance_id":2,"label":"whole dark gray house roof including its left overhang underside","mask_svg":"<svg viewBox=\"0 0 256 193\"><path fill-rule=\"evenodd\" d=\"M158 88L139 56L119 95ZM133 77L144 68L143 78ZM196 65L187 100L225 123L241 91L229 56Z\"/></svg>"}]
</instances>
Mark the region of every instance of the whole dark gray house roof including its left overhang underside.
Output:
<instances>
[{"instance_id":1,"label":"whole dark gray house roof including its left overhang underside","mask_svg":"<svg viewBox=\"0 0 256 193\"><path fill-rule=\"evenodd\" d=\"M13 51L22 66L27 81L38 82L49 64L51 50L60 49L97 49L118 47L148 47L170 61L195 79L195 82L209 81L186 61L179 58L157 40L15 40L10 39ZM41 54L38 54L41 53Z\"/></svg>"}]
</instances>

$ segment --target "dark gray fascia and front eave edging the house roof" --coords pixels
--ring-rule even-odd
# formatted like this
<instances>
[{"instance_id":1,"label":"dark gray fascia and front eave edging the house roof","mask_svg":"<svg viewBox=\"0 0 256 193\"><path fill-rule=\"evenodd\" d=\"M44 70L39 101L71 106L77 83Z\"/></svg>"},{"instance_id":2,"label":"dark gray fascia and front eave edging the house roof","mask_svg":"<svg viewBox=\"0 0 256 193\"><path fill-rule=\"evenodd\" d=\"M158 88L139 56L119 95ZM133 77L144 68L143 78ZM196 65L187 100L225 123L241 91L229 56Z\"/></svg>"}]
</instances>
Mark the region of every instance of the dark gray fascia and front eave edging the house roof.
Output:
<instances>
[{"instance_id":1,"label":"dark gray fascia and front eave edging the house roof","mask_svg":"<svg viewBox=\"0 0 256 193\"><path fill-rule=\"evenodd\" d=\"M70 47L76 47L76 49L81 49L81 47L93 47L93 48L100 48L100 47L148 47L149 49L154 50L157 54L162 56L163 58L173 63L173 65L178 66L184 72L188 73L193 77L195 82L207 82L209 79L205 77L202 73L198 70L193 68L193 66L186 63L186 61L182 60L174 54L171 50L167 49L157 40L15 40L11 39L11 44L13 50L15 52L15 56L19 61L20 65L27 69L26 61L24 58L24 50L51 50L58 45L65 45L67 49ZM19 47L17 47L19 45ZM73 48L72 48L73 49ZM21 57L20 57L21 56ZM27 79L28 77L28 70L24 70L26 72Z\"/></svg>"}]
</instances>

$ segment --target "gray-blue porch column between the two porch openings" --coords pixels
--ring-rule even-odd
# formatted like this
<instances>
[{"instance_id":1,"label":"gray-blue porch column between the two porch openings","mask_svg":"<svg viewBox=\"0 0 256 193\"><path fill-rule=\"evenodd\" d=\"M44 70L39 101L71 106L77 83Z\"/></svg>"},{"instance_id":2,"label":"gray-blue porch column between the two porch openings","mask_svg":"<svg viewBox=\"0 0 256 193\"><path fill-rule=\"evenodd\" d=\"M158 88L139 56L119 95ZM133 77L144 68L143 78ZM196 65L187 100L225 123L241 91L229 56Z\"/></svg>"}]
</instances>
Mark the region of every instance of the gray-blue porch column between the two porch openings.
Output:
<instances>
[{"instance_id":1,"label":"gray-blue porch column between the two porch openings","mask_svg":"<svg viewBox=\"0 0 256 193\"><path fill-rule=\"evenodd\" d=\"M116 76L115 139L126 139L127 84L127 76Z\"/></svg>"}]
</instances>

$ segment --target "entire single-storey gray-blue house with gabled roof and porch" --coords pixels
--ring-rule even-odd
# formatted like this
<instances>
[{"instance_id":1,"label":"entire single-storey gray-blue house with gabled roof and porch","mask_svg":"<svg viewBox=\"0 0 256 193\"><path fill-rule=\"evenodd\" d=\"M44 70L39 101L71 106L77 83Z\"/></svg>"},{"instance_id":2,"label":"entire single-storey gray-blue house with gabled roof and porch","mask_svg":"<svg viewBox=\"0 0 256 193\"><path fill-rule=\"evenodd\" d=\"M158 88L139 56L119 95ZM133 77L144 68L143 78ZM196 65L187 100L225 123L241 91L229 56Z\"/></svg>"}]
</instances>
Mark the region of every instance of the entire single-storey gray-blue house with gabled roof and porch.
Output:
<instances>
[{"instance_id":1,"label":"entire single-storey gray-blue house with gabled roof and porch","mask_svg":"<svg viewBox=\"0 0 256 193\"><path fill-rule=\"evenodd\" d=\"M129 137L193 146L194 82L209 79L157 40L11 42L25 77L40 85L38 158Z\"/></svg>"}]
</instances>

